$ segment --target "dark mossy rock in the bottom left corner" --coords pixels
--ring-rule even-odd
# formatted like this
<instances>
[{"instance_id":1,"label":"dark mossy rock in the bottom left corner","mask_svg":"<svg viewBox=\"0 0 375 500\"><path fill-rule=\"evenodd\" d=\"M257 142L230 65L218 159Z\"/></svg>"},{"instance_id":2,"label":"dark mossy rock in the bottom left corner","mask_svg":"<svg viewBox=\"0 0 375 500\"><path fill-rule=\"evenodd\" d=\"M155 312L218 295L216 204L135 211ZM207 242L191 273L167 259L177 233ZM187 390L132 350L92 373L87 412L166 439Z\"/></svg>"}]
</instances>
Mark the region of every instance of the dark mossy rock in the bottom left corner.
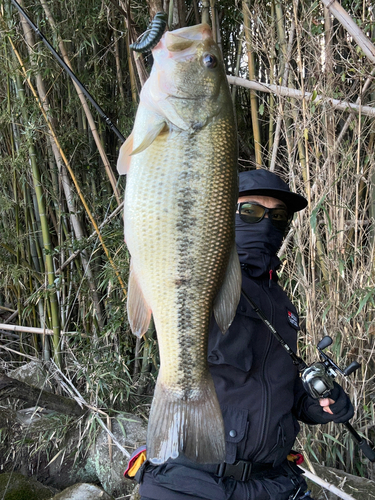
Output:
<instances>
[{"instance_id":1,"label":"dark mossy rock in the bottom left corner","mask_svg":"<svg viewBox=\"0 0 375 500\"><path fill-rule=\"evenodd\" d=\"M32 477L17 472L0 474L0 498L2 500L47 500L53 493Z\"/></svg>"}]
</instances>

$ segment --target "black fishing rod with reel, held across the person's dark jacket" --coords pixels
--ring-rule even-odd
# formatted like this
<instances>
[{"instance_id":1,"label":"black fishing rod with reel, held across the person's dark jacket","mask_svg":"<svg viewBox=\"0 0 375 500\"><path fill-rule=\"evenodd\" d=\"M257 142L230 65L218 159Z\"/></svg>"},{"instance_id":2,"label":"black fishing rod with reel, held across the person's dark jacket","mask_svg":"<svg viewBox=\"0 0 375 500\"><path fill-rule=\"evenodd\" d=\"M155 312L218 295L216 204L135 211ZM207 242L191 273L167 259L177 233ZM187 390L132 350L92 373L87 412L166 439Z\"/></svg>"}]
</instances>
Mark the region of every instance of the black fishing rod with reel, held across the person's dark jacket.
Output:
<instances>
[{"instance_id":1,"label":"black fishing rod with reel, held across the person's dark jacket","mask_svg":"<svg viewBox=\"0 0 375 500\"><path fill-rule=\"evenodd\" d=\"M256 314L260 317L267 328L272 332L277 341L284 347L286 352L292 358L293 363L297 366L298 371L301 373L302 383L306 392L314 399L327 398L333 389L333 379L336 377L337 373L347 377L354 371L360 368L360 364L357 361L353 361L344 370L341 370L334 361L327 356L323 349L332 344L332 339L328 335L324 337L317 345L321 361L313 363L308 366L302 358L297 356L293 349L285 342L281 335L277 332L275 327L270 323L263 313L263 311L251 300L247 293L242 289L242 295L245 297L247 302L251 305ZM354 427L348 422L343 423L348 429L350 434L353 436L358 444L358 447L362 450L363 454L371 461L375 462L375 450L367 443L367 441L362 438Z\"/></svg>"}]
</instances>

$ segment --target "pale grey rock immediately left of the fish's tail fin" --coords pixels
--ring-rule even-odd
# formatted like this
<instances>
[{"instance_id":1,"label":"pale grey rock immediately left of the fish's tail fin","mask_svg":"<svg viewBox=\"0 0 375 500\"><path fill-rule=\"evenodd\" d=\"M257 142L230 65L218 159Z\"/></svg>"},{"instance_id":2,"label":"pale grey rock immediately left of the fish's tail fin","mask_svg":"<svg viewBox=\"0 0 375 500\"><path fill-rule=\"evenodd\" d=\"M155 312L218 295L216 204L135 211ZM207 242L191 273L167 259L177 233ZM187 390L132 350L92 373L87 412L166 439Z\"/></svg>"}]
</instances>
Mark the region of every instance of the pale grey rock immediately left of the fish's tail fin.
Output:
<instances>
[{"instance_id":1,"label":"pale grey rock immediately left of the fish's tail fin","mask_svg":"<svg viewBox=\"0 0 375 500\"><path fill-rule=\"evenodd\" d=\"M120 414L112 419L113 435L130 453L146 443L147 426L144 420L131 414ZM101 430L95 446L90 449L86 467L95 469L104 490L113 495L127 495L134 489L134 481L124 478L128 459L112 444L112 461L109 457L108 434Z\"/></svg>"}]
</instances>

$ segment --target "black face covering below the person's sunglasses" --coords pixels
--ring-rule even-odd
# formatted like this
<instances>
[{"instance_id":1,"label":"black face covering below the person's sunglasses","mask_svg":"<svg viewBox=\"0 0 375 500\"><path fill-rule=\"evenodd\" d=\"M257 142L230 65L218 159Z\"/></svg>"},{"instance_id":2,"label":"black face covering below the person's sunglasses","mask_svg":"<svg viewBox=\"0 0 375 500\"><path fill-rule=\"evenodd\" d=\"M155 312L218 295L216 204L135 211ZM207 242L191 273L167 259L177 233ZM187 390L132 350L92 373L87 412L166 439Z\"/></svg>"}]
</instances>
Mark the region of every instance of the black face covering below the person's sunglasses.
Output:
<instances>
[{"instance_id":1,"label":"black face covering below the person's sunglasses","mask_svg":"<svg viewBox=\"0 0 375 500\"><path fill-rule=\"evenodd\" d=\"M247 224L236 214L236 245L241 265L253 278L268 277L269 271L280 266L277 251L281 247L284 231L276 229L270 219Z\"/></svg>"}]
</instances>

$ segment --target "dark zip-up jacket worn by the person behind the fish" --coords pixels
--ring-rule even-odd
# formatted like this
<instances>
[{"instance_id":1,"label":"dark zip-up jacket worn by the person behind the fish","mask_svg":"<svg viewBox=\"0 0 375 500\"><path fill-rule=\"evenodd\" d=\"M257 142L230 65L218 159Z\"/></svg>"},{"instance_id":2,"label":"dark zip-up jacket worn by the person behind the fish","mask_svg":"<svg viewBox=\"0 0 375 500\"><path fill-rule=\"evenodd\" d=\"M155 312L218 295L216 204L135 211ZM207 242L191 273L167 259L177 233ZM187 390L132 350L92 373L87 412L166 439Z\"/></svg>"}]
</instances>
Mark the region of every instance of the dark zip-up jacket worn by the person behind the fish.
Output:
<instances>
[{"instance_id":1,"label":"dark zip-up jacket worn by the person behind the fish","mask_svg":"<svg viewBox=\"0 0 375 500\"><path fill-rule=\"evenodd\" d=\"M275 280L250 279L243 289L296 351L298 315ZM223 412L226 462L285 460L299 432L305 391L289 354L241 296L235 319L223 335L211 324L208 361Z\"/></svg>"}]
</instances>

